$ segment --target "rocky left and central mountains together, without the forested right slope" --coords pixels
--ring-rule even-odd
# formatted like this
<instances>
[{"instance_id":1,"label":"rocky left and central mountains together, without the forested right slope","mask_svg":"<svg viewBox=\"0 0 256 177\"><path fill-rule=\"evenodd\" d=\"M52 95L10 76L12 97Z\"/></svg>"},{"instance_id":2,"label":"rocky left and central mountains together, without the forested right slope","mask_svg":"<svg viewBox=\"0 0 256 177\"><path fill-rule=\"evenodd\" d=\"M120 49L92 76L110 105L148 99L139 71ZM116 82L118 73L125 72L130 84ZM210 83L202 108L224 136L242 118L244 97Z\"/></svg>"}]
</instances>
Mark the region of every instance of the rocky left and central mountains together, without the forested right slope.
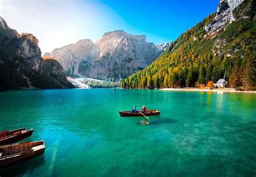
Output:
<instances>
[{"instance_id":1,"label":"rocky left and central mountains together, without the forested right slope","mask_svg":"<svg viewBox=\"0 0 256 177\"><path fill-rule=\"evenodd\" d=\"M41 56L35 36L18 34L2 17L0 22L0 90L74 88L66 76L125 78L156 60L170 44L156 46L145 36L113 31L95 44L83 39Z\"/></svg>"}]
</instances>

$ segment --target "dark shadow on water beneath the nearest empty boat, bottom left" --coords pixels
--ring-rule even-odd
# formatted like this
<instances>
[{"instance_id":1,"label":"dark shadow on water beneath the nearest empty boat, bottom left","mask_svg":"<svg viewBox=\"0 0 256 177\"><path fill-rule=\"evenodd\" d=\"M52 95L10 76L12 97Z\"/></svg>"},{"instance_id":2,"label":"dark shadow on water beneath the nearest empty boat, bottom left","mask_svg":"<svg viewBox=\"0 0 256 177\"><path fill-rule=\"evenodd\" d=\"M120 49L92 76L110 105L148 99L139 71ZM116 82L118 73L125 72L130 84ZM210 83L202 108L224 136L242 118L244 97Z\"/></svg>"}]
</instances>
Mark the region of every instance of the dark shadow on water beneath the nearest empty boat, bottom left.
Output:
<instances>
[{"instance_id":1,"label":"dark shadow on water beneath the nearest empty boat, bottom left","mask_svg":"<svg viewBox=\"0 0 256 177\"><path fill-rule=\"evenodd\" d=\"M45 164L44 154L33 159L21 162L17 165L0 169L0 176L18 176L22 174L30 174L36 168Z\"/></svg>"}]
</instances>

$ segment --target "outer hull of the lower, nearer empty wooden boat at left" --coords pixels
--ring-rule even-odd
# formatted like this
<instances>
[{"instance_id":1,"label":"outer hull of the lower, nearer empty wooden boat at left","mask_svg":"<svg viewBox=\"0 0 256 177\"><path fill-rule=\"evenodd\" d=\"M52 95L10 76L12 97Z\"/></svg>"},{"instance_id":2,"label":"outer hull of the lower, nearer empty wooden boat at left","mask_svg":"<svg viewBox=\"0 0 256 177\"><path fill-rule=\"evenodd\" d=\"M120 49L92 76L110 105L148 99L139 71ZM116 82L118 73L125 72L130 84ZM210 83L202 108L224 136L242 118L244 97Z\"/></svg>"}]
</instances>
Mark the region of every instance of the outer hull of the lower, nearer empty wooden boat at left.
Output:
<instances>
[{"instance_id":1,"label":"outer hull of the lower, nearer empty wooden boat at left","mask_svg":"<svg viewBox=\"0 0 256 177\"><path fill-rule=\"evenodd\" d=\"M28 150L29 152L27 152L27 153L25 151L23 151L23 152L25 152L24 154L16 153L16 154L12 154L12 155L6 155L4 157L0 156L0 169L11 166L11 165L16 165L16 164L19 164L23 161L26 161L26 160L32 159L34 157L37 157L38 155L43 154L44 150L45 150L44 141L24 142L24 143L7 145L7 146L14 147L14 146L19 145L19 144L30 144L30 143L37 143L37 142L42 142L41 148L39 148L37 150ZM3 147L6 147L6 146L0 146L0 153L1 153L1 149ZM14 149L15 148L16 147L14 147Z\"/></svg>"}]
</instances>

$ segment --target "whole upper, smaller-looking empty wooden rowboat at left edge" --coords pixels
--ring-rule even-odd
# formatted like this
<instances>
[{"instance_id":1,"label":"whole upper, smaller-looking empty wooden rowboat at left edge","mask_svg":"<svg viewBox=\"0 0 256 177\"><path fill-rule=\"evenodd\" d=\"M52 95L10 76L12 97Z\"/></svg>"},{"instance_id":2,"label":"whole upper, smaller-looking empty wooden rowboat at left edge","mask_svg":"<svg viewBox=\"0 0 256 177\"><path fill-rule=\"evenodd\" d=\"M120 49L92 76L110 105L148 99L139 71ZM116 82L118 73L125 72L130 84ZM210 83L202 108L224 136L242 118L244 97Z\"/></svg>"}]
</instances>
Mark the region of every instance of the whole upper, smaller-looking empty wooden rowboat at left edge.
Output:
<instances>
[{"instance_id":1,"label":"whole upper, smaller-looking empty wooden rowboat at left edge","mask_svg":"<svg viewBox=\"0 0 256 177\"><path fill-rule=\"evenodd\" d=\"M0 146L16 143L17 141L30 137L32 133L33 129L26 130L25 128L0 131Z\"/></svg>"}]
</instances>

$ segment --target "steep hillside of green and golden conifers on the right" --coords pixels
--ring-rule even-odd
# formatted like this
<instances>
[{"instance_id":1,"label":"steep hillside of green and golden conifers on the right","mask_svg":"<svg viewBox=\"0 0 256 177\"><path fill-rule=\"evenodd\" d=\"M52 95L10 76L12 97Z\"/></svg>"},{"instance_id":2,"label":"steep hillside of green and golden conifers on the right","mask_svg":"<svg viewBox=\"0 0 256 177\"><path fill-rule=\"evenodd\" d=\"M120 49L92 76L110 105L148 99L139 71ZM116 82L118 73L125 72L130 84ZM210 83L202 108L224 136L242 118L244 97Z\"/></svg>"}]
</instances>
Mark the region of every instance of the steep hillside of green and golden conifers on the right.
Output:
<instances>
[{"instance_id":1,"label":"steep hillside of green and golden conifers on the right","mask_svg":"<svg viewBox=\"0 0 256 177\"><path fill-rule=\"evenodd\" d=\"M197 87L226 74L232 88L255 88L255 1L237 6L232 23L206 31L217 13L181 34L149 67L123 80L121 87Z\"/></svg>"}]
</instances>

